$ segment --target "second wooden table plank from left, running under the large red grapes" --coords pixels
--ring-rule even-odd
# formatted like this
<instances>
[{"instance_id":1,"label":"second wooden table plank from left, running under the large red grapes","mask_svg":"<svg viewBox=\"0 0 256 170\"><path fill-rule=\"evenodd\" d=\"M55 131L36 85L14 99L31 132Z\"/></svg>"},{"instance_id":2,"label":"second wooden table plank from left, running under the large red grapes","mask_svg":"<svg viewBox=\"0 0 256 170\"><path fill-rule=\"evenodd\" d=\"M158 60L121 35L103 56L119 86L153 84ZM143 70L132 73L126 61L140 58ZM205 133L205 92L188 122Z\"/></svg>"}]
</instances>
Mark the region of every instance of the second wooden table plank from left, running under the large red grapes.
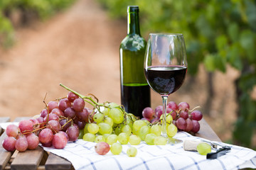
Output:
<instances>
[{"instance_id":1,"label":"second wooden table plank from left, running under the large red grapes","mask_svg":"<svg viewBox=\"0 0 256 170\"><path fill-rule=\"evenodd\" d=\"M16 118L14 121L29 119L30 117ZM14 161L11 163L11 169L37 169L43 157L43 148L37 147L34 150L18 152Z\"/></svg>"}]
</instances>

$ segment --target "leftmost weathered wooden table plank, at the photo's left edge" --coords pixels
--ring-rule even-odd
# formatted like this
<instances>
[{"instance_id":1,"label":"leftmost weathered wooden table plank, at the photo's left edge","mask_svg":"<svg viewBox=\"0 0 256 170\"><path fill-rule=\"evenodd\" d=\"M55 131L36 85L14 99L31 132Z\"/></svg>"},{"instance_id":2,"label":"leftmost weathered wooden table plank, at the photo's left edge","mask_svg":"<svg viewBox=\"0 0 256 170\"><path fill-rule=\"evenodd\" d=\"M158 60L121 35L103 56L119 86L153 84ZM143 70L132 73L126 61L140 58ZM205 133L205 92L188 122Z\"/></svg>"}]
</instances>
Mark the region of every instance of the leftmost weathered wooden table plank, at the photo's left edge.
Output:
<instances>
[{"instance_id":1,"label":"leftmost weathered wooden table plank, at the photo's left edge","mask_svg":"<svg viewBox=\"0 0 256 170\"><path fill-rule=\"evenodd\" d=\"M10 118L0 118L0 123L9 122ZM1 130L0 130L1 131ZM1 143L4 141L4 138L6 137L6 133L4 132L0 137L0 169L4 169L6 164L9 162L9 159L11 158L11 152L7 152Z\"/></svg>"}]
</instances>

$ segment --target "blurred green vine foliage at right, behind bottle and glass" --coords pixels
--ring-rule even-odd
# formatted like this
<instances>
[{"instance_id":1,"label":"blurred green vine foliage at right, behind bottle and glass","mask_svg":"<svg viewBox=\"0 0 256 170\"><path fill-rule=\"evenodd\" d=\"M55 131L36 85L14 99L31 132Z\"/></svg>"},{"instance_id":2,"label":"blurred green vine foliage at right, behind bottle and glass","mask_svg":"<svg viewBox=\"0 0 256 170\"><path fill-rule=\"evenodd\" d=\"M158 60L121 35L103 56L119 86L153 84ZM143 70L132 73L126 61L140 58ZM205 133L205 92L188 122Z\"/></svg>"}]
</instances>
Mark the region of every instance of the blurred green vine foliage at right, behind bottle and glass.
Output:
<instances>
[{"instance_id":1,"label":"blurred green vine foliage at right, behind bottle and glass","mask_svg":"<svg viewBox=\"0 0 256 170\"><path fill-rule=\"evenodd\" d=\"M225 72L230 64L240 70L236 82L238 121L233 140L250 147L256 127L256 1L255 0L98 0L115 18L127 17L127 6L140 9L142 33L183 33L188 72L203 63L208 72Z\"/></svg>"}]
</instances>

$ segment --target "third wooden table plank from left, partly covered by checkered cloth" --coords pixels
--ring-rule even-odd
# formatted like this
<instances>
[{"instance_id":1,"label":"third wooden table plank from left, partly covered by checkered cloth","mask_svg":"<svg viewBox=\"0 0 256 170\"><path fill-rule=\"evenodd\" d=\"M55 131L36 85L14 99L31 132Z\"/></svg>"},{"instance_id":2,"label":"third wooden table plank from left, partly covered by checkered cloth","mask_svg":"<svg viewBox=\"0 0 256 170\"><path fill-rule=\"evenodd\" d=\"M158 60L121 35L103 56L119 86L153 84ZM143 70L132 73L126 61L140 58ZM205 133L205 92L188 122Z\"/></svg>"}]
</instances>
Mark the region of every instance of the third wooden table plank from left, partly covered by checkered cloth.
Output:
<instances>
[{"instance_id":1,"label":"third wooden table plank from left, partly covered by checkered cloth","mask_svg":"<svg viewBox=\"0 0 256 170\"><path fill-rule=\"evenodd\" d=\"M73 169L73 166L66 159L50 153L46 161L46 170Z\"/></svg>"}]
</instances>

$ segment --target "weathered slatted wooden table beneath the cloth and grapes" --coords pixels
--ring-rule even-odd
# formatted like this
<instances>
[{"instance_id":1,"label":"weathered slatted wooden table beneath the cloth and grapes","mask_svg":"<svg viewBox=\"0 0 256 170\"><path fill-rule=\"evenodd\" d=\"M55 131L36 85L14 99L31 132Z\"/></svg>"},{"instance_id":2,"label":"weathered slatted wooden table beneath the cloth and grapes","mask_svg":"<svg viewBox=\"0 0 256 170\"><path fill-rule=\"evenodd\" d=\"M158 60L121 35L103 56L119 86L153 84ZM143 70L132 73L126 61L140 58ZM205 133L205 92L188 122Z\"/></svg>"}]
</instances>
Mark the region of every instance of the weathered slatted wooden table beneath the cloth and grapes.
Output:
<instances>
[{"instance_id":1,"label":"weathered slatted wooden table beneath the cloth and grapes","mask_svg":"<svg viewBox=\"0 0 256 170\"><path fill-rule=\"evenodd\" d=\"M16 122L28 118L16 118ZM0 123L9 122L10 118L0 118ZM206 120L199 121L201 128L196 134L198 137L203 137L208 140L221 141L215 132L210 128ZM6 137L4 130L0 129L0 144ZM43 148L38 147L35 150L27 150L26 152L7 152L0 145L0 169L74 169L72 164L66 159L48 153Z\"/></svg>"}]
</instances>

